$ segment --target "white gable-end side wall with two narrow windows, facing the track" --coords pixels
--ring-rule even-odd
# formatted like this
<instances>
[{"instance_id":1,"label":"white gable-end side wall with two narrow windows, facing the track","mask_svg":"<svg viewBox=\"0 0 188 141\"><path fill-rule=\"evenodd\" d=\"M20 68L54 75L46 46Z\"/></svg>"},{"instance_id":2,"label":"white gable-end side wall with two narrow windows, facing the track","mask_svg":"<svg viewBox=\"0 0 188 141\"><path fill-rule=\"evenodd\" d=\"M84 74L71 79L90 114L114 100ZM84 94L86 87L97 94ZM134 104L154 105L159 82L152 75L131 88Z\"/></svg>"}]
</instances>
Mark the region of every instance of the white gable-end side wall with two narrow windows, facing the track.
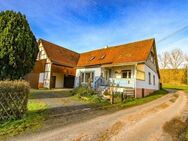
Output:
<instances>
[{"instance_id":1,"label":"white gable-end side wall with two narrow windows, facing the track","mask_svg":"<svg viewBox=\"0 0 188 141\"><path fill-rule=\"evenodd\" d=\"M159 89L159 77L157 72L154 72L151 70L147 65L144 65L145 69L145 81L142 80L136 80L136 88L145 88L145 89ZM149 84L149 75L148 73L151 73L151 84ZM153 75L155 75L155 85L153 84Z\"/></svg>"}]
</instances>

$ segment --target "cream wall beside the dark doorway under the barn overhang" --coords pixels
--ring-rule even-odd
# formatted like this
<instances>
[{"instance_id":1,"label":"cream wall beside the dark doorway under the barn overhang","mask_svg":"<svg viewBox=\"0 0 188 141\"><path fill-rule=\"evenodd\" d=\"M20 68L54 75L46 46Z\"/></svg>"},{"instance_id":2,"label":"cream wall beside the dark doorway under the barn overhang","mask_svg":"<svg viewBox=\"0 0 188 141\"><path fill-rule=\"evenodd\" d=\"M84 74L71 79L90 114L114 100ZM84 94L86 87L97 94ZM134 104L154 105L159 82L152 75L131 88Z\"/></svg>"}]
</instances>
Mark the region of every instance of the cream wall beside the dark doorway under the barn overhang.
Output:
<instances>
[{"instance_id":1,"label":"cream wall beside the dark doorway under the barn overhang","mask_svg":"<svg viewBox=\"0 0 188 141\"><path fill-rule=\"evenodd\" d=\"M52 76L56 76L55 88L63 88L64 87L64 74L53 73Z\"/></svg>"}]
</instances>

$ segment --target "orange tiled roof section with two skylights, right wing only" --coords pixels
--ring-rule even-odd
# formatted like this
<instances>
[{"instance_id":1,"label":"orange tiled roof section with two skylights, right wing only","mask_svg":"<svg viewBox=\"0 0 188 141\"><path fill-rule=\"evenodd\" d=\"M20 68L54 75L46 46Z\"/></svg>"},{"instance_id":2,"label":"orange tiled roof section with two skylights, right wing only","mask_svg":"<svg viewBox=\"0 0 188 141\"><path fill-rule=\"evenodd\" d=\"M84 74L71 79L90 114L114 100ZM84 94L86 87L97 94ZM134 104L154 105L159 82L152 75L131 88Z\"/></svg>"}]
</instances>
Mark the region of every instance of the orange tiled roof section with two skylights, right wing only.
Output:
<instances>
[{"instance_id":1,"label":"orange tiled roof section with two skylights, right wing only","mask_svg":"<svg viewBox=\"0 0 188 141\"><path fill-rule=\"evenodd\" d=\"M154 39L137 41L80 54L77 67L146 61Z\"/></svg>"}]
</instances>

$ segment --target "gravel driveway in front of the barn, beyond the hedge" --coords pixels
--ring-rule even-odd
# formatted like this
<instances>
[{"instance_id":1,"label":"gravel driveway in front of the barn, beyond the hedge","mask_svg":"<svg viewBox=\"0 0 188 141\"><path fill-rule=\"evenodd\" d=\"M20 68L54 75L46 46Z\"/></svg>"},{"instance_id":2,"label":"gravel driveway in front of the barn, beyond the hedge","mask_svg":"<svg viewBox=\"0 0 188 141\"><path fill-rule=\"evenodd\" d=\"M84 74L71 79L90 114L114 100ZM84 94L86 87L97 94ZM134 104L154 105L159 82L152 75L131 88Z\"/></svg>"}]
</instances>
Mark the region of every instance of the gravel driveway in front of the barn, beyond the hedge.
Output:
<instances>
[{"instance_id":1,"label":"gravel driveway in front of the barn, beyond the hedge","mask_svg":"<svg viewBox=\"0 0 188 141\"><path fill-rule=\"evenodd\" d=\"M83 110L90 106L84 102L71 98L71 89L35 90L29 101L43 102L48 106L48 115L57 116L59 114Z\"/></svg>"}]
</instances>

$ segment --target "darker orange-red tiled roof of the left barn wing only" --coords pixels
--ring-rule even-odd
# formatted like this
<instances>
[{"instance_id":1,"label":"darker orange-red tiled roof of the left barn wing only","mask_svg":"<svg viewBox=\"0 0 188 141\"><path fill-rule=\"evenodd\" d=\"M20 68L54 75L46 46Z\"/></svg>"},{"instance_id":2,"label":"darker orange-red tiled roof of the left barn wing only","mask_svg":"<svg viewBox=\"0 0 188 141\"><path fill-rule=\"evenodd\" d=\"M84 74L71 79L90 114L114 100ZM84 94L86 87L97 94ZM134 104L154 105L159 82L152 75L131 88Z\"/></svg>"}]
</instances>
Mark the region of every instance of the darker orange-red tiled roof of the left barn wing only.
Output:
<instances>
[{"instance_id":1,"label":"darker orange-red tiled roof of the left barn wing only","mask_svg":"<svg viewBox=\"0 0 188 141\"><path fill-rule=\"evenodd\" d=\"M76 66L80 56L79 53L63 48L59 45L53 44L44 39L39 39L39 43L40 42L42 43L48 58L53 62L53 64L58 64L67 67Z\"/></svg>"}]
</instances>

